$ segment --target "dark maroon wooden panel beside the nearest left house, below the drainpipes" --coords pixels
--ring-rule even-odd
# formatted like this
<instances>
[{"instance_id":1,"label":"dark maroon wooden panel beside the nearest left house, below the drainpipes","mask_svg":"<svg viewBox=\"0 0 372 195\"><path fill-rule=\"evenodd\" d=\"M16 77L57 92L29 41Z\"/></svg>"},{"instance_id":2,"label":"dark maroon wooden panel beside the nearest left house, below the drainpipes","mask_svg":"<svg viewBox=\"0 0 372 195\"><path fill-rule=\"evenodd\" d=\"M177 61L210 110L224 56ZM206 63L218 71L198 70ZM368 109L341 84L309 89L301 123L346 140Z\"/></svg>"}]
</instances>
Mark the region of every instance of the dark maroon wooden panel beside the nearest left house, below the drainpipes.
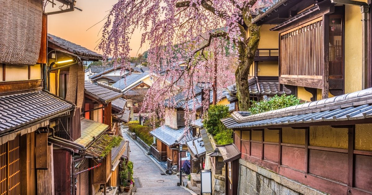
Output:
<instances>
[{"instance_id":1,"label":"dark maroon wooden panel beside the nearest left house, below the drainpipes","mask_svg":"<svg viewBox=\"0 0 372 195\"><path fill-rule=\"evenodd\" d=\"M53 150L55 194L71 194L71 155L67 150Z\"/></svg>"}]
</instances>

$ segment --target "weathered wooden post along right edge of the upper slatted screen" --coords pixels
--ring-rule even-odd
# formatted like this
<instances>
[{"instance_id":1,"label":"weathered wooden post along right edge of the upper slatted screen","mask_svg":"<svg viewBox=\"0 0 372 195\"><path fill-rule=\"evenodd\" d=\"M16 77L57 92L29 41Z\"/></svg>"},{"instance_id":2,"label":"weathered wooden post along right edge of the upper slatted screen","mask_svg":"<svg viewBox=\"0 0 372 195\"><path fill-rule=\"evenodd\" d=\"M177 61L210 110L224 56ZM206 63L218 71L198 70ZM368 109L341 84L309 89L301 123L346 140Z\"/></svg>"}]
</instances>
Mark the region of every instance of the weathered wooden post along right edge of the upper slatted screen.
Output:
<instances>
[{"instance_id":1,"label":"weathered wooden post along right edge of the upper slatted screen","mask_svg":"<svg viewBox=\"0 0 372 195\"><path fill-rule=\"evenodd\" d=\"M329 92L329 15L323 15L323 88L322 99L328 98Z\"/></svg>"}]
</instances>

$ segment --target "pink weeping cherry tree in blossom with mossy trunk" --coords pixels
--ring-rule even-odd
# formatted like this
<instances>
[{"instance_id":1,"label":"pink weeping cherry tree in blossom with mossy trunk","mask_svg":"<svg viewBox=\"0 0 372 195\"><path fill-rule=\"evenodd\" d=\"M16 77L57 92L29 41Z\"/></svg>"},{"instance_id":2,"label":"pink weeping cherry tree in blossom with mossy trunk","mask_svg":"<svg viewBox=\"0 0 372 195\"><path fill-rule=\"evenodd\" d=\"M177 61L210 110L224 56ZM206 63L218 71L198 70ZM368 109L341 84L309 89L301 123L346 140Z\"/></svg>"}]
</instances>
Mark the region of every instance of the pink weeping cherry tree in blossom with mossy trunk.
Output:
<instances>
[{"instance_id":1,"label":"pink weeping cherry tree in blossom with mossy trunk","mask_svg":"<svg viewBox=\"0 0 372 195\"><path fill-rule=\"evenodd\" d=\"M121 58L117 65L127 69L129 41L141 29L139 44L150 48L147 61L156 78L142 111L157 111L163 117L165 99L183 92L191 100L197 82L214 79L219 91L236 82L240 110L247 110L247 78L260 39L260 27L251 24L251 10L265 3L272 0L119 0L103 26L99 48L115 62ZM196 100L187 107L193 113L198 104L209 102Z\"/></svg>"}]
</instances>

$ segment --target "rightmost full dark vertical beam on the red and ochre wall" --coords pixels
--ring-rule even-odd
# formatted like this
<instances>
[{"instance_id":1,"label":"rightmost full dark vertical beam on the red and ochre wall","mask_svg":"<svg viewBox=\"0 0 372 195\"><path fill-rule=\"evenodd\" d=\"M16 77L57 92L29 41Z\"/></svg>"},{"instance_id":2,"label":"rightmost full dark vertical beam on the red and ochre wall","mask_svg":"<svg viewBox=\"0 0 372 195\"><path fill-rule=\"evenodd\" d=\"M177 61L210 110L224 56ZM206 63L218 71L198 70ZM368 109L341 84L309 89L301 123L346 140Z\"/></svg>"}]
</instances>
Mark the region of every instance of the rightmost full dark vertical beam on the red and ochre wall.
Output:
<instances>
[{"instance_id":1,"label":"rightmost full dark vertical beam on the red and ochre wall","mask_svg":"<svg viewBox=\"0 0 372 195\"><path fill-rule=\"evenodd\" d=\"M355 126L349 128L347 145L347 186L353 187Z\"/></svg>"}]
</instances>

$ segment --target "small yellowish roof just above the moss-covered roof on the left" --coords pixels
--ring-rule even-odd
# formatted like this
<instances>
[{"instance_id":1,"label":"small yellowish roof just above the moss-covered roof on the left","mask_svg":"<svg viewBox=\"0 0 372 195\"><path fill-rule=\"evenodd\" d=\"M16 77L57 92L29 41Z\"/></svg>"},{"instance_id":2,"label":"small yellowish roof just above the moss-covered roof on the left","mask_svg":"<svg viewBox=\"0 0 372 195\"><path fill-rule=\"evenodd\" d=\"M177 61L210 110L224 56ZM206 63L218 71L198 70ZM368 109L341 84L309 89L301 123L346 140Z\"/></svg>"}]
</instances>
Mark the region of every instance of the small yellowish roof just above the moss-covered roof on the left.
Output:
<instances>
[{"instance_id":1,"label":"small yellowish roof just above the moss-covered roof on the left","mask_svg":"<svg viewBox=\"0 0 372 195\"><path fill-rule=\"evenodd\" d=\"M109 126L106 124L98 123L86 118L81 119L80 126L81 136L79 139L75 140L75 143L83 146L87 146L89 143L93 142L96 137L98 137L109 128Z\"/></svg>"}]
</instances>

